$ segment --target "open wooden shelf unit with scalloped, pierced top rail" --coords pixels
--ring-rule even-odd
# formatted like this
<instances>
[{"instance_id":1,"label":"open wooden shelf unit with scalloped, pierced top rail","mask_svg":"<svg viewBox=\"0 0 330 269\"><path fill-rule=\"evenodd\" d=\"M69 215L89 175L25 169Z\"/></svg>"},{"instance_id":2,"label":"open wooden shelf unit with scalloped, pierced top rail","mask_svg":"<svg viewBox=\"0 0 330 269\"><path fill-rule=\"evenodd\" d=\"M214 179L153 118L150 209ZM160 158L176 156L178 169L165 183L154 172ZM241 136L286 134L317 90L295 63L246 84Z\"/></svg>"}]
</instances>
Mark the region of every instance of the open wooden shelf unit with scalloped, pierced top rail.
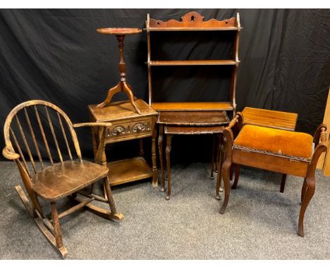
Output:
<instances>
[{"instance_id":1,"label":"open wooden shelf unit with scalloped, pierced top rail","mask_svg":"<svg viewBox=\"0 0 330 269\"><path fill-rule=\"evenodd\" d=\"M229 18L226 20L207 20L204 21L204 17L195 11L191 11L183 17L181 21L178 20L168 20L162 21L154 18L150 18L147 15L146 22L147 29L147 45L148 45L148 58L147 58L147 68L148 68L148 87L149 87L149 105L152 106L157 111L236 111L236 75L237 68L240 61L238 60L238 43L240 30L240 17L237 13L236 18ZM152 58L152 32L185 32L185 31L234 31L233 51L231 58L225 59L156 59ZM214 35L217 35L214 33ZM161 47L161 44L157 45L157 48ZM231 83L228 89L229 100L221 102L161 102L159 100L153 101L153 81L152 81L152 67L153 66L198 66L198 65L228 65L231 68ZM157 70L159 72L159 70ZM156 72L156 71L154 71ZM155 89L157 90L157 89ZM201 89L202 90L202 89ZM214 89L216 90L216 89Z\"/></svg>"}]
</instances>

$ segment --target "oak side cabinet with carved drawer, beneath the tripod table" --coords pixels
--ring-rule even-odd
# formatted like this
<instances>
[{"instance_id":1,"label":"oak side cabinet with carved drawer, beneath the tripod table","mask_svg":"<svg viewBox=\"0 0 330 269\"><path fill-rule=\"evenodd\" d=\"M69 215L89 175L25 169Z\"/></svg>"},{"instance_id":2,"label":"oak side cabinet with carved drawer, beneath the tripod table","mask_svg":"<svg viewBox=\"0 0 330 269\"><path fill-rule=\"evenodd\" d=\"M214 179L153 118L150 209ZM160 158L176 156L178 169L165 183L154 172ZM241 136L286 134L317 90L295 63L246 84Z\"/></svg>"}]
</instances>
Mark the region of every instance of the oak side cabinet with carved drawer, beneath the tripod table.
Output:
<instances>
[{"instance_id":1,"label":"oak side cabinet with carved drawer, beneath the tripod table","mask_svg":"<svg viewBox=\"0 0 330 269\"><path fill-rule=\"evenodd\" d=\"M92 122L112 123L106 130L104 144L123 142L130 139L140 139L140 156L125 160L106 162L105 149L102 154L102 164L109 168L109 182L111 186L142 180L152 177L152 186L157 187L157 163L156 163L156 136L155 128L157 111L148 106L142 99L135 100L140 114L135 113L129 101L113 102L104 108L97 108L97 105L90 105L90 120ZM152 168L149 167L143 158L142 138L152 137ZM92 127L92 143L94 155L96 155L99 143L99 129Z\"/></svg>"}]
</instances>

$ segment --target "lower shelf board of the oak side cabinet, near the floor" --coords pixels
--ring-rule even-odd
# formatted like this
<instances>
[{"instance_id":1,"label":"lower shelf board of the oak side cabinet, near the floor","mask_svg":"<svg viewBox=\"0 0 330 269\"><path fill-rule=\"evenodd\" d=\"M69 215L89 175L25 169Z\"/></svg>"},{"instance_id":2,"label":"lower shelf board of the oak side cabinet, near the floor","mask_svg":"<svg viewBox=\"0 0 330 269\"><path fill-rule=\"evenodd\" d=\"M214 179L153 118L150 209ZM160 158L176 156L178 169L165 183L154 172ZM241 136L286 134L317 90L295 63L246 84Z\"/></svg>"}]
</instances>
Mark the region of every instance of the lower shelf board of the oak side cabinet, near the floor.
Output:
<instances>
[{"instance_id":1,"label":"lower shelf board of the oak side cabinet, near the floor","mask_svg":"<svg viewBox=\"0 0 330 269\"><path fill-rule=\"evenodd\" d=\"M152 170L143 157L106 163L111 186L152 177Z\"/></svg>"}]
</instances>

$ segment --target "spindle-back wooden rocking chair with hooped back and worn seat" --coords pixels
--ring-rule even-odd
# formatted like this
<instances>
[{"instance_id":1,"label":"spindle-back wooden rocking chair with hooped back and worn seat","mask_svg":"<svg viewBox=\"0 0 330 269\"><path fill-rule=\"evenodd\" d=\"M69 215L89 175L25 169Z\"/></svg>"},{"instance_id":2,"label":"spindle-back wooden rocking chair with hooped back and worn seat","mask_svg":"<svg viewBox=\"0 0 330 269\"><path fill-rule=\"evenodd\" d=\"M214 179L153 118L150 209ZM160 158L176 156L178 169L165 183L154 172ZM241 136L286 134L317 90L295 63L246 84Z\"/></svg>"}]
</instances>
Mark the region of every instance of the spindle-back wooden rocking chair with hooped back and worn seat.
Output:
<instances>
[{"instance_id":1,"label":"spindle-back wooden rocking chair with hooped back and worn seat","mask_svg":"<svg viewBox=\"0 0 330 269\"><path fill-rule=\"evenodd\" d=\"M2 153L4 157L15 161L18 165L27 195L20 185L16 186L16 191L39 230L63 257L68 251L63 246L59 219L80 208L86 208L109 220L123 219L123 215L116 212L109 186L108 168L99 164L104 149L106 127L109 125L111 123L73 124L59 107L40 100L19 104L6 118L4 124L6 146ZM87 126L100 128L99 148L94 152L95 163L82 160L77 135L73 129L73 127ZM58 129L59 132L55 132ZM60 146L66 149L70 158L68 161L63 160L64 154ZM72 147L74 150L71 152ZM56 155L51 154L53 148L56 148ZM27 154L23 154L23 151ZM78 158L73 158L75 154ZM42 160L43 155L48 156L49 163ZM33 156L37 156L39 164L34 161ZM30 158L30 163L27 163L27 158ZM57 159L58 163L56 163ZM98 180L103 180L107 198L93 194L94 182ZM87 192L82 192L85 188ZM82 196L85 198L82 199ZM73 206L59 214L56 202L64 197L68 197ZM50 203L51 219L42 211L38 199ZM108 204L110 211L91 204L94 200Z\"/></svg>"}]
</instances>

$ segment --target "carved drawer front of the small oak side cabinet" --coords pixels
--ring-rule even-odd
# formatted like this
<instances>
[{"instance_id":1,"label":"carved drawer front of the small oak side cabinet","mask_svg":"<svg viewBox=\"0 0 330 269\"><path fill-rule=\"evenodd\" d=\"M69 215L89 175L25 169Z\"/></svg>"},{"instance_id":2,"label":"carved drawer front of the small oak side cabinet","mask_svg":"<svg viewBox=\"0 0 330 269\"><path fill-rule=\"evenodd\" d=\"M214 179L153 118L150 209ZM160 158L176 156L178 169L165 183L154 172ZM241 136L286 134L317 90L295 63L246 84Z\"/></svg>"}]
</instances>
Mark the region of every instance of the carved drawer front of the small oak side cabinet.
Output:
<instances>
[{"instance_id":1,"label":"carved drawer front of the small oak side cabinet","mask_svg":"<svg viewBox=\"0 0 330 269\"><path fill-rule=\"evenodd\" d=\"M106 130L106 139L123 139L126 137L138 137L140 135L152 133L151 119L130 123L118 123Z\"/></svg>"}]
</instances>

